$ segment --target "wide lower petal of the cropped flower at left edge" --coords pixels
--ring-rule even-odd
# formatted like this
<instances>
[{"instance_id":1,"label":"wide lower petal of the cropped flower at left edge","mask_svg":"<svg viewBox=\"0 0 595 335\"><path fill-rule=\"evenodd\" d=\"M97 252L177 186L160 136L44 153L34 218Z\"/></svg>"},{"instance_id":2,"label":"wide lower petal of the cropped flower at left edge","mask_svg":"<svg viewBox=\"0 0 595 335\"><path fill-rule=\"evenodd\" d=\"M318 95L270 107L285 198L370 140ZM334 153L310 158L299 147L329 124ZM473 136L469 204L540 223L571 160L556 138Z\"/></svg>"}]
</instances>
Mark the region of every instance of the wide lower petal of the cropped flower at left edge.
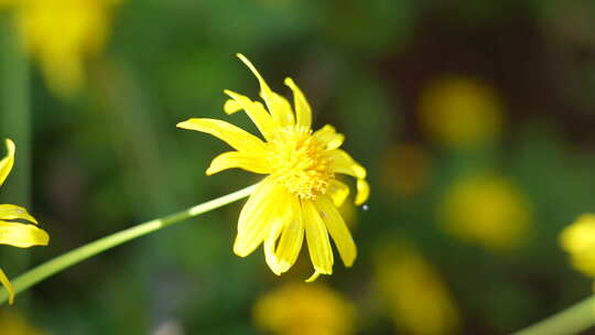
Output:
<instances>
[{"instance_id":1,"label":"wide lower petal of the cropped flower at left edge","mask_svg":"<svg viewBox=\"0 0 595 335\"><path fill-rule=\"evenodd\" d=\"M29 248L32 246L46 246L50 236L47 233L33 225L0 220L0 245Z\"/></svg>"}]
</instances>

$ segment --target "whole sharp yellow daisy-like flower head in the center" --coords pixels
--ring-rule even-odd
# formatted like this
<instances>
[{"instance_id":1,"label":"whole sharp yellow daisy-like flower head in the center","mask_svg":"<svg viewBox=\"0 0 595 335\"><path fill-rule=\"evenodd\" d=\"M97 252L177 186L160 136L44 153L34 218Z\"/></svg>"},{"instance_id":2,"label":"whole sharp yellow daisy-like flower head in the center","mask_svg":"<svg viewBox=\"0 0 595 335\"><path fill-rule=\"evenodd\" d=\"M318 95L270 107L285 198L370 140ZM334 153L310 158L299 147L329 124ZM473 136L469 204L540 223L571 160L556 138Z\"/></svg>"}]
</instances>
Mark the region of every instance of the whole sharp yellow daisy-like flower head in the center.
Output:
<instances>
[{"instance_id":1,"label":"whole sharp yellow daisy-like flower head in the center","mask_svg":"<svg viewBox=\"0 0 595 335\"><path fill-rule=\"evenodd\" d=\"M333 273L333 237L343 262L350 267L356 258L356 246L337 207L349 194L349 187L335 179L336 173L357 179L356 205L369 195L366 169L338 149L345 137L332 126L312 131L312 111L302 90L291 78L285 85L293 91L295 114L290 102L272 91L256 67L244 55L238 57L260 83L261 102L237 93L225 90L230 97L225 112L244 109L262 133L264 141L228 122L215 119L190 119L180 128L213 134L236 151L221 153L207 169L207 175L239 168L267 174L252 193L238 221L234 252L250 255L264 244L266 260L280 275L295 262L304 239L307 241L314 274Z\"/></svg>"}]
</instances>

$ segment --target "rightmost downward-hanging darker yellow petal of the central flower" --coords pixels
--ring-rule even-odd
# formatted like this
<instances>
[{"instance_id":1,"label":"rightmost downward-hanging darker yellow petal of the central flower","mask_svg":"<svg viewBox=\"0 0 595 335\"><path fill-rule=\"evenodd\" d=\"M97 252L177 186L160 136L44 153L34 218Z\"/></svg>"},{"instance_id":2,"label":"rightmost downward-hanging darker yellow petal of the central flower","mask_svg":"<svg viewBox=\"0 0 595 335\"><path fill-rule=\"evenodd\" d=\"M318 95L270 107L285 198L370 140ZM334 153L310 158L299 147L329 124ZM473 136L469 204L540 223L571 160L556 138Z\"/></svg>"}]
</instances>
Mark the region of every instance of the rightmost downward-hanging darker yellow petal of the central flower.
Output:
<instances>
[{"instance_id":1,"label":"rightmost downward-hanging darker yellow petal of the central flower","mask_svg":"<svg viewBox=\"0 0 595 335\"><path fill-rule=\"evenodd\" d=\"M326 229L328 229L331 237L333 237L337 246L340 259L343 259L346 267L353 266L357 256L357 248L343 217L327 196L318 196L315 205L321 213Z\"/></svg>"}]
</instances>

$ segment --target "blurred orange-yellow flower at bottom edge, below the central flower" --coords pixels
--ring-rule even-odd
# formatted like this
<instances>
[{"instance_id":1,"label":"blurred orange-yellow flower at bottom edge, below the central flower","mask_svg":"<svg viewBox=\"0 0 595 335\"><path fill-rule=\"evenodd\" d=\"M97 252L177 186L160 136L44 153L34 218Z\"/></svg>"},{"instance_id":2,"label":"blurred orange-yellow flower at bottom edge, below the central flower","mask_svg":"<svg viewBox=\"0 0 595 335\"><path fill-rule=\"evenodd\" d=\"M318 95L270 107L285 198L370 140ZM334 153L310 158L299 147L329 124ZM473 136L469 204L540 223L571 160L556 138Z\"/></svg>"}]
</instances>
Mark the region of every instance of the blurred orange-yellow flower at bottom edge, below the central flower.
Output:
<instances>
[{"instance_id":1,"label":"blurred orange-yellow flower at bottom edge, below the central flower","mask_svg":"<svg viewBox=\"0 0 595 335\"><path fill-rule=\"evenodd\" d=\"M279 335L354 333L354 306L322 284L294 283L264 294L255 307L257 325Z\"/></svg>"}]
</instances>

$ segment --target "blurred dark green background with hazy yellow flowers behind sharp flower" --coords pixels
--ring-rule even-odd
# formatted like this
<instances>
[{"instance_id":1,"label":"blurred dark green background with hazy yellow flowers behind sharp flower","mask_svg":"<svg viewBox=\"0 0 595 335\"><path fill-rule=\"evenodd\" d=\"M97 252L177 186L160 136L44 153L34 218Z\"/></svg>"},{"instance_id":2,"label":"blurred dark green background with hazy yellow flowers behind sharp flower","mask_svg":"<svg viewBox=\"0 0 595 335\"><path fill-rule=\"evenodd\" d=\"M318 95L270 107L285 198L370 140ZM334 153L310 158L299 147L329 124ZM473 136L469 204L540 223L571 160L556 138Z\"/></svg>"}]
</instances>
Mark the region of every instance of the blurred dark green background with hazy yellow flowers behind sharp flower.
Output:
<instances>
[{"instance_id":1,"label":"blurred dark green background with hazy yellow flowers behind sharp flower","mask_svg":"<svg viewBox=\"0 0 595 335\"><path fill-rule=\"evenodd\" d=\"M288 97L293 77L371 185L340 208L354 267L313 284L306 248L282 277L232 253L240 202L18 295L2 334L489 335L593 292L559 236L595 210L595 2L0 0L0 199L51 235L1 248L10 278L257 182L207 177L227 145L175 128L256 133L223 111L258 96L238 52Z\"/></svg>"}]
</instances>

